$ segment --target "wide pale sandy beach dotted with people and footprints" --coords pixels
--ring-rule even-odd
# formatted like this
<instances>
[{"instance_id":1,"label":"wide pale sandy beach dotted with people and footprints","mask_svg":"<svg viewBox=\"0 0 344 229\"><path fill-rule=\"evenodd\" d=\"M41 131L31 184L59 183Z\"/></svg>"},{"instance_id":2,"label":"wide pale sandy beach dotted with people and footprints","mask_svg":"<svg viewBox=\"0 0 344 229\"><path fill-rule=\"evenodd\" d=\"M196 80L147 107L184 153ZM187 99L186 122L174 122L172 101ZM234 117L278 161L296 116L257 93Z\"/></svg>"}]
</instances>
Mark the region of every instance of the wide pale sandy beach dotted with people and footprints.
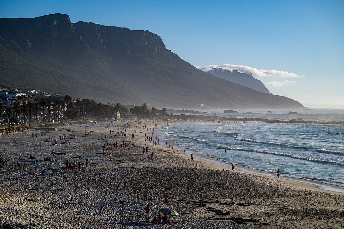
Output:
<instances>
[{"instance_id":1,"label":"wide pale sandy beach dotted with people and footprints","mask_svg":"<svg viewBox=\"0 0 344 229\"><path fill-rule=\"evenodd\" d=\"M153 133L150 122L145 131L144 123L137 127L134 122L125 130L124 123L115 124L119 131L126 130L128 138L117 139L115 134L109 134L110 130L118 131L115 124L109 125L109 129L105 124L75 124L58 127L56 132L31 130L3 135L0 228L7 223L31 228L165 227L144 221L146 189L151 219L164 207L164 194L169 194L169 207L180 214L169 217L179 221L169 226L174 228L343 228L341 193L304 182L240 172L237 168L227 172L223 169L230 170L228 167L203 159L191 161L183 152L170 152L162 141L157 146L145 143L144 135L151 137ZM92 130L98 133L85 135ZM31 138L32 132L37 133L37 138ZM59 143L59 136L69 133L80 133L80 137L61 146L52 145L51 140L44 142L53 138ZM127 139L131 141L130 150L121 149L120 144ZM118 148L113 146L116 141ZM105 151L112 156L103 156L104 144ZM132 144L136 145L135 150ZM142 147L147 146L149 155L154 152L150 161L148 154L142 154ZM57 155L56 162L44 161L51 152L66 156ZM29 160L30 155L37 157L38 162ZM73 158L77 156L80 159ZM88 159L89 167L85 172L67 171L66 159L76 164Z\"/></svg>"}]
</instances>

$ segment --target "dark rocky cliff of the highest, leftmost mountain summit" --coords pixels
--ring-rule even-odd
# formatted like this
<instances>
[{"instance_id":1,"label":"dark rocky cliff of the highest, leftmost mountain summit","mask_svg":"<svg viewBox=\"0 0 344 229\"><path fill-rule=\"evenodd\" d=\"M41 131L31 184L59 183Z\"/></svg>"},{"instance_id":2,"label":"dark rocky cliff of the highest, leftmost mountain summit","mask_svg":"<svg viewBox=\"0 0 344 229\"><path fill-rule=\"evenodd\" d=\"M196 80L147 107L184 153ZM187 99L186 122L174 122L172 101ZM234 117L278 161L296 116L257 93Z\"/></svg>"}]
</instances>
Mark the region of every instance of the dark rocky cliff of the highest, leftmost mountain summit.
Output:
<instances>
[{"instance_id":1,"label":"dark rocky cliff of the highest, leftmost mountain summit","mask_svg":"<svg viewBox=\"0 0 344 229\"><path fill-rule=\"evenodd\" d=\"M19 54L29 52L66 58L88 52L86 42L75 33L65 14L1 19L0 37Z\"/></svg>"}]
</instances>

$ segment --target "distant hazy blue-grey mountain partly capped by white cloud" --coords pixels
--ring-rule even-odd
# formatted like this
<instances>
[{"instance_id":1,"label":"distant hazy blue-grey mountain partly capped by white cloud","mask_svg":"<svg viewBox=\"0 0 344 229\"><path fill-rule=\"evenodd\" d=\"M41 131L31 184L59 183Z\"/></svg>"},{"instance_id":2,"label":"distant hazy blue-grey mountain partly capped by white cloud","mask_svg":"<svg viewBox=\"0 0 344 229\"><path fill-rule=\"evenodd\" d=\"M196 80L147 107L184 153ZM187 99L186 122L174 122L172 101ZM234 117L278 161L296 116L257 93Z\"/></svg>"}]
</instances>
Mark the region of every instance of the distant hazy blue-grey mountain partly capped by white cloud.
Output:
<instances>
[{"instance_id":1,"label":"distant hazy blue-grey mountain partly capped by white cloud","mask_svg":"<svg viewBox=\"0 0 344 229\"><path fill-rule=\"evenodd\" d=\"M265 87L265 85L260 80L255 79L250 74L241 73L237 70L229 71L222 68L212 68L207 73L223 79L227 79L229 81L243 85L245 87L255 89L257 91L271 94L270 91Z\"/></svg>"}]
</instances>

